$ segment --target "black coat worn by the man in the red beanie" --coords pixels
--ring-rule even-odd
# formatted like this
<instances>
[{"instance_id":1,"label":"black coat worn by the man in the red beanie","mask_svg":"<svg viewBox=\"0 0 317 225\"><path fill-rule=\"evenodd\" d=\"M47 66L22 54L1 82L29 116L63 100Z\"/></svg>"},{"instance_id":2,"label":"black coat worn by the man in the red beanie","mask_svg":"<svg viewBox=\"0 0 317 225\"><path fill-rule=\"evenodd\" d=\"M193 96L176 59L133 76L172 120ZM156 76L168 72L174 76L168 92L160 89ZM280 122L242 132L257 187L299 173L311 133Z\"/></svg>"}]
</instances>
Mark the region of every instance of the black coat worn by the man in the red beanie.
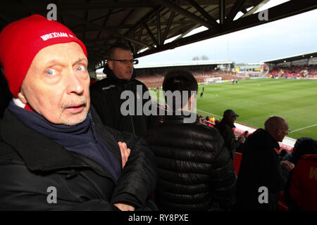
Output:
<instances>
[{"instance_id":1,"label":"black coat worn by the man in the red beanie","mask_svg":"<svg viewBox=\"0 0 317 225\"><path fill-rule=\"evenodd\" d=\"M156 162L136 136L104 127L92 113L96 133L121 165L118 141L131 148L118 181L97 162L66 150L26 127L7 109L0 123L0 210L118 210L130 203L137 210L157 210L151 199ZM49 204L49 187L57 203Z\"/></svg>"}]
</instances>

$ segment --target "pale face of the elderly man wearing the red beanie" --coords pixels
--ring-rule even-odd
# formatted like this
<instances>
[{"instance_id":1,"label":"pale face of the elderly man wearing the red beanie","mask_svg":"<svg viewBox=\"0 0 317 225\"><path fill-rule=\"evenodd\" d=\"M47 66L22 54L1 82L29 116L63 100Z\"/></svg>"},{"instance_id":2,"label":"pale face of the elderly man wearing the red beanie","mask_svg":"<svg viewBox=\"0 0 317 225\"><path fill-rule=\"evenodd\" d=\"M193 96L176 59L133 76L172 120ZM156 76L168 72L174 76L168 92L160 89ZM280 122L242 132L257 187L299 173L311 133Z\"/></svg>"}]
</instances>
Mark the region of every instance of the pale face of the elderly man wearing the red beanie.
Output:
<instances>
[{"instance_id":1,"label":"pale face of the elderly man wearing the red beanie","mask_svg":"<svg viewBox=\"0 0 317 225\"><path fill-rule=\"evenodd\" d=\"M33 59L18 98L54 124L83 122L90 106L87 65L75 42L47 46Z\"/></svg>"}]
</instances>

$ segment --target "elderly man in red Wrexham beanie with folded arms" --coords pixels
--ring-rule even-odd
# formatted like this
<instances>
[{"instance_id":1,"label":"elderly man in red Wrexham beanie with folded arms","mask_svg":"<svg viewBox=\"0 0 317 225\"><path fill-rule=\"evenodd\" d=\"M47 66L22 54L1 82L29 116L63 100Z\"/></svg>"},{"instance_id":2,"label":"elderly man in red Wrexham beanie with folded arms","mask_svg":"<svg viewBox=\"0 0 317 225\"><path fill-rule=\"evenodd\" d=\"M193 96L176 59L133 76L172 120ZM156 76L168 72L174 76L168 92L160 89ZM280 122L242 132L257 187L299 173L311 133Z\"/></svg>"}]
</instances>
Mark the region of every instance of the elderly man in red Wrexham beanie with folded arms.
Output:
<instances>
[{"instance_id":1,"label":"elderly man in red Wrexham beanie with folded arms","mask_svg":"<svg viewBox=\"0 0 317 225\"><path fill-rule=\"evenodd\" d=\"M87 51L73 32L41 15L15 21L0 60L13 94L0 124L0 210L156 209L154 155L90 108Z\"/></svg>"}]
</instances>

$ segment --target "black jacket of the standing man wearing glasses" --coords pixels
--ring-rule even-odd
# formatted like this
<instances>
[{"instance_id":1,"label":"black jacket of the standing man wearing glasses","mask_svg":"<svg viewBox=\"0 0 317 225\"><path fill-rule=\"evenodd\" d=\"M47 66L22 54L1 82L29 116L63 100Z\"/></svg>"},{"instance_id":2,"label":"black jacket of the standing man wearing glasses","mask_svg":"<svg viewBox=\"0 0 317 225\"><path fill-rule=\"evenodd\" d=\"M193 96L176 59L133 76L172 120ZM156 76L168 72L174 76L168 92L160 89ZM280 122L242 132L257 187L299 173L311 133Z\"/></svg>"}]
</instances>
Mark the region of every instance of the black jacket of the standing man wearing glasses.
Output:
<instances>
[{"instance_id":1,"label":"black jacket of the standing man wearing glasses","mask_svg":"<svg viewBox=\"0 0 317 225\"><path fill-rule=\"evenodd\" d=\"M102 122L106 126L118 131L126 131L137 136L143 136L148 129L151 129L158 123L157 116L147 116L143 113L143 105L147 101L151 101L151 98L142 99L144 92L149 91L147 86L135 79L135 72L130 80L118 79L108 67L105 68L104 72L107 77L90 87L92 105L97 110ZM142 87L142 93L137 94L137 86ZM132 91L134 94L134 115L123 115L120 110L121 105L128 101L128 98L120 99L123 91ZM142 115L137 113L139 105L142 108L138 110L141 111Z\"/></svg>"}]
</instances>

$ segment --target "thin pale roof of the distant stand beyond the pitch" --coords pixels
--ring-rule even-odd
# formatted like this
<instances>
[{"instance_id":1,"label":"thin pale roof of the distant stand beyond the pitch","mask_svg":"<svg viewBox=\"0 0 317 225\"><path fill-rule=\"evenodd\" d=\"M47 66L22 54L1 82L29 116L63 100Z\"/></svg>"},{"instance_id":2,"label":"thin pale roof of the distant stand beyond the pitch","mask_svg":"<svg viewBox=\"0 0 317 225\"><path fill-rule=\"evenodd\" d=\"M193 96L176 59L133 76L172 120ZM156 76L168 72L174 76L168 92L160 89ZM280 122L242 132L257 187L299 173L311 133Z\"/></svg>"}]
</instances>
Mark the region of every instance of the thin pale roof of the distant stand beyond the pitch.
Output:
<instances>
[{"instance_id":1,"label":"thin pale roof of the distant stand beyond the pitch","mask_svg":"<svg viewBox=\"0 0 317 225\"><path fill-rule=\"evenodd\" d=\"M220 65L220 64L232 64L232 61L210 61L210 60L192 60L183 62L171 62L171 63L142 63L134 65L136 69L141 68L166 68L175 66L190 66L190 65Z\"/></svg>"}]
</instances>

